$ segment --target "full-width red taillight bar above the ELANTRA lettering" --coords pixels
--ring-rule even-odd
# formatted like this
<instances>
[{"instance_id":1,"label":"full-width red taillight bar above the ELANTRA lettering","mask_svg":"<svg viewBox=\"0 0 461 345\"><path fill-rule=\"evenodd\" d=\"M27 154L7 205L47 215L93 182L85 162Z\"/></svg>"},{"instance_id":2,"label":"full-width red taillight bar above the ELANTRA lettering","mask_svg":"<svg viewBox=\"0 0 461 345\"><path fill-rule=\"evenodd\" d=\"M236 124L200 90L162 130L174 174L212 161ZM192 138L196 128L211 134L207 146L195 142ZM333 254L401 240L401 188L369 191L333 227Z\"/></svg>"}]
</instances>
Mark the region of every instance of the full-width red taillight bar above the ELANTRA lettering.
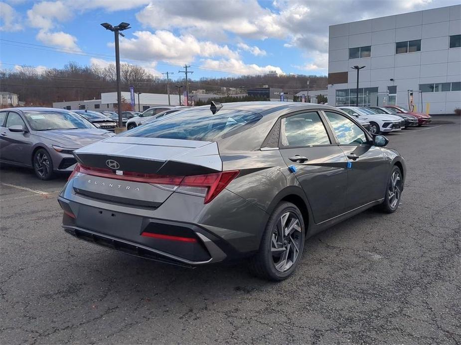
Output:
<instances>
[{"instance_id":1,"label":"full-width red taillight bar above the ELANTRA lettering","mask_svg":"<svg viewBox=\"0 0 461 345\"><path fill-rule=\"evenodd\" d=\"M153 173L133 173L123 172L123 175L114 173L110 169L92 168L77 164L74 171L69 176L71 179L76 173L85 173L87 175L115 178L125 181L144 182L153 184L166 184L173 186L188 186L207 188L204 203L207 204L213 200L226 186L239 174L238 170L207 173L203 175L192 176L167 176Z\"/></svg>"}]
</instances>

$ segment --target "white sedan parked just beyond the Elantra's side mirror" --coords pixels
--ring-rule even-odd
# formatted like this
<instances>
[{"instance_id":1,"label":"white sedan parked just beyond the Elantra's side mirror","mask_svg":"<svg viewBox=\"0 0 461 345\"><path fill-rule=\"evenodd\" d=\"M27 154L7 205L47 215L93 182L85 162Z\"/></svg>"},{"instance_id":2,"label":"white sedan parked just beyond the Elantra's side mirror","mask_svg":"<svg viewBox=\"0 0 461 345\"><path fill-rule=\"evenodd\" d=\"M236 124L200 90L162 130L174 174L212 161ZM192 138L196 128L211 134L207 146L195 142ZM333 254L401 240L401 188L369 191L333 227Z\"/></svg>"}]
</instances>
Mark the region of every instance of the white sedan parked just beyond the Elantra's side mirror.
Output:
<instances>
[{"instance_id":1,"label":"white sedan parked just beyond the Elantra's side mirror","mask_svg":"<svg viewBox=\"0 0 461 345\"><path fill-rule=\"evenodd\" d=\"M375 114L371 110L356 106L338 106L338 109L348 113L349 115L358 116L370 123L371 134L395 132L402 129L402 121L396 119L395 116L386 114ZM403 121L405 127L405 121Z\"/></svg>"}]
</instances>

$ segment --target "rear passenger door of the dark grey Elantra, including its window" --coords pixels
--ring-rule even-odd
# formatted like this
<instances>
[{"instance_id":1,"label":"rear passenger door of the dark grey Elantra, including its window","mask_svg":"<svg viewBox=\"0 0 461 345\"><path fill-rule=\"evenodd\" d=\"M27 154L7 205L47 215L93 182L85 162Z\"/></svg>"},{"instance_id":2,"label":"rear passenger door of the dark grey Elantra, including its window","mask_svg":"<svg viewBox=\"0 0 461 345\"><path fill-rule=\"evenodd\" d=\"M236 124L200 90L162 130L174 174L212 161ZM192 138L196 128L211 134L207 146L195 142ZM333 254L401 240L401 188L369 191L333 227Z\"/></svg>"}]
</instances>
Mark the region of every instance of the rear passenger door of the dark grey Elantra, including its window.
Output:
<instances>
[{"instance_id":1,"label":"rear passenger door of the dark grey Elantra, including its window","mask_svg":"<svg viewBox=\"0 0 461 345\"><path fill-rule=\"evenodd\" d=\"M317 111L303 111L280 121L279 151L306 193L314 222L343 213L346 157L324 120Z\"/></svg>"}]
</instances>

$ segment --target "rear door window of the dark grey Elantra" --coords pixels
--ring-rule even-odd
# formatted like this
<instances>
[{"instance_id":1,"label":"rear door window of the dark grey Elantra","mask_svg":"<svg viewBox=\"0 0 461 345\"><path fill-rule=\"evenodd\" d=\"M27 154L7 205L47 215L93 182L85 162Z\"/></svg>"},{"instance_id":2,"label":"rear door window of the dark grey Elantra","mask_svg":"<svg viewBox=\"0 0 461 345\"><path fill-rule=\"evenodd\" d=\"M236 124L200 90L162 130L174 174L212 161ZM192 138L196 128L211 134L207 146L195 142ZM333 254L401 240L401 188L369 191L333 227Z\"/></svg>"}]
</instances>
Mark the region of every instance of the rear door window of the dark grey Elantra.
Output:
<instances>
[{"instance_id":1,"label":"rear door window of the dark grey Elantra","mask_svg":"<svg viewBox=\"0 0 461 345\"><path fill-rule=\"evenodd\" d=\"M283 118L280 126L280 141L283 147L330 144L325 126L317 112Z\"/></svg>"}]
</instances>

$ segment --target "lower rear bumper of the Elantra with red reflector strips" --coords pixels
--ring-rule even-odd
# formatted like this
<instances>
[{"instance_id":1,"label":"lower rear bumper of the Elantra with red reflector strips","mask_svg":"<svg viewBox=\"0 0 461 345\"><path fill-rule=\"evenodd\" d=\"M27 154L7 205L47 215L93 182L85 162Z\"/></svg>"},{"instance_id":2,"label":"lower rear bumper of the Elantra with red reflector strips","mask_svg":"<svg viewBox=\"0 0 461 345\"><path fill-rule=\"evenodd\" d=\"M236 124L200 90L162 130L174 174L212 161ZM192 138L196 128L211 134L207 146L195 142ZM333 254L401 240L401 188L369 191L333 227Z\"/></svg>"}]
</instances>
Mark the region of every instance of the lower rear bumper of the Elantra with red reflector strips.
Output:
<instances>
[{"instance_id":1,"label":"lower rear bumper of the Elantra with red reflector strips","mask_svg":"<svg viewBox=\"0 0 461 345\"><path fill-rule=\"evenodd\" d=\"M129 255L194 267L252 253L244 232L120 212L107 204L94 207L62 196L58 201L67 233Z\"/></svg>"}]
</instances>

